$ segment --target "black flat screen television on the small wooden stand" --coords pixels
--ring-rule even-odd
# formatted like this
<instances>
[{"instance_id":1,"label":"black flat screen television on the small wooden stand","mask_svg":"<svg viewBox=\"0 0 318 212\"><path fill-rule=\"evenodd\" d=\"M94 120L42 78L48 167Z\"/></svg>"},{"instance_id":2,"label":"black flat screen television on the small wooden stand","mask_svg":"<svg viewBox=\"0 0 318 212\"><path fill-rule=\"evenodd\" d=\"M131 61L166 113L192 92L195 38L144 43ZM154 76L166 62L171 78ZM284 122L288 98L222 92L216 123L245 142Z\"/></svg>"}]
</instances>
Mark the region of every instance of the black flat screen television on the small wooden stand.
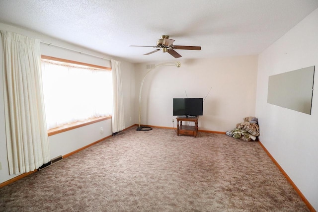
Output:
<instances>
[{"instance_id":1,"label":"black flat screen television on the small wooden stand","mask_svg":"<svg viewBox=\"0 0 318 212\"><path fill-rule=\"evenodd\" d=\"M173 116L197 117L203 115L203 98L174 98Z\"/></svg>"}]
</instances>

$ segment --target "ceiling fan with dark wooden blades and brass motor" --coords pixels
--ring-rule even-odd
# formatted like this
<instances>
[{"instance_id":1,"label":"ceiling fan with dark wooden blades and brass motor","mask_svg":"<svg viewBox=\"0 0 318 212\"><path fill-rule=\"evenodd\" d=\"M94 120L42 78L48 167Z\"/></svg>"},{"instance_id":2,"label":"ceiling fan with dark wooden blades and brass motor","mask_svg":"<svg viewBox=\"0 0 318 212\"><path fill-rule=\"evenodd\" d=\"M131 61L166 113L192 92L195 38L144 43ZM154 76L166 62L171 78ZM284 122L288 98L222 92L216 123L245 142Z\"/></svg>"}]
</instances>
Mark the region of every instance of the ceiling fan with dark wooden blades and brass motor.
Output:
<instances>
[{"instance_id":1,"label":"ceiling fan with dark wooden blades and brass motor","mask_svg":"<svg viewBox=\"0 0 318 212\"><path fill-rule=\"evenodd\" d=\"M175 49L184 49L184 50L201 50L201 46L177 46L177 45L172 45L174 40L169 39L169 35L162 35L161 39L157 41L157 46L135 46L135 47L153 47L153 48L158 48L155 51L146 53L144 55L150 55L155 52L158 52L159 50L162 50L162 52L167 52L170 55L172 55L174 58L180 58L182 57L174 51Z\"/></svg>"}]
</instances>

